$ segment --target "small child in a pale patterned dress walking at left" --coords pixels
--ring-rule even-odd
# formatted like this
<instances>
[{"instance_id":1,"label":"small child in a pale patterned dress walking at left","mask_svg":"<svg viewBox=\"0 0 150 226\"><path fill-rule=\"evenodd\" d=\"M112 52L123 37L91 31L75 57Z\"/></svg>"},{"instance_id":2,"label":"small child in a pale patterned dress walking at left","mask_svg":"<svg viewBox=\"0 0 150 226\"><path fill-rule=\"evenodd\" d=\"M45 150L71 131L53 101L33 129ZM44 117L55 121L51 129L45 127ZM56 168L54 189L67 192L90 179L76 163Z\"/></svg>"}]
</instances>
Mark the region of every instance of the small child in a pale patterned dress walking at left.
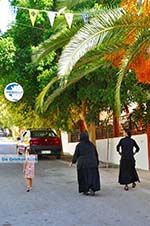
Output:
<instances>
[{"instance_id":1,"label":"small child in a pale patterned dress walking at left","mask_svg":"<svg viewBox=\"0 0 150 226\"><path fill-rule=\"evenodd\" d=\"M30 158L30 149L26 150L25 162L23 165L24 178L26 180L27 192L32 189L32 178L34 177L34 160Z\"/></svg>"}]
</instances>

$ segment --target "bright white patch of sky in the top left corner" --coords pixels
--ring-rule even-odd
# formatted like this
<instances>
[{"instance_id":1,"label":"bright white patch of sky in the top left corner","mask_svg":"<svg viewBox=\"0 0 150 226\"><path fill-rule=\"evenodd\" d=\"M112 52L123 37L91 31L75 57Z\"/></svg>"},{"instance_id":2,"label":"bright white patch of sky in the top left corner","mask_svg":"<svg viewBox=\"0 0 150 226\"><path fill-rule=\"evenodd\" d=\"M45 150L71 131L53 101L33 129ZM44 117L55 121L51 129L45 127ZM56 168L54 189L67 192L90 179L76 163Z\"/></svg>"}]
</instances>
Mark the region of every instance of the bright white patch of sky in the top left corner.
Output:
<instances>
[{"instance_id":1,"label":"bright white patch of sky in the top left corner","mask_svg":"<svg viewBox=\"0 0 150 226\"><path fill-rule=\"evenodd\" d=\"M0 0L0 30L5 32L12 21L12 13L8 0Z\"/></svg>"}]
</instances>

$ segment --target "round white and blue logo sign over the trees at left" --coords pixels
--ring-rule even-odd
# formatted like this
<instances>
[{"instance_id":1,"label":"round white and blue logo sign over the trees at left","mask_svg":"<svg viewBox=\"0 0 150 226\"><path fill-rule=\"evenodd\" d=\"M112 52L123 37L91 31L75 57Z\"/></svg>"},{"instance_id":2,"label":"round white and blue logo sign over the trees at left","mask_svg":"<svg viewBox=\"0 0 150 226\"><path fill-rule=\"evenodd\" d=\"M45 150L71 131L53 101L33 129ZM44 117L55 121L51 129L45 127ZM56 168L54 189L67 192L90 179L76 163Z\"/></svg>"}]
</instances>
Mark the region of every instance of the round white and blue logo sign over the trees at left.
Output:
<instances>
[{"instance_id":1,"label":"round white and blue logo sign over the trees at left","mask_svg":"<svg viewBox=\"0 0 150 226\"><path fill-rule=\"evenodd\" d=\"M9 83L4 90L4 95L11 102L19 101L23 96L23 88L16 82Z\"/></svg>"}]
</instances>

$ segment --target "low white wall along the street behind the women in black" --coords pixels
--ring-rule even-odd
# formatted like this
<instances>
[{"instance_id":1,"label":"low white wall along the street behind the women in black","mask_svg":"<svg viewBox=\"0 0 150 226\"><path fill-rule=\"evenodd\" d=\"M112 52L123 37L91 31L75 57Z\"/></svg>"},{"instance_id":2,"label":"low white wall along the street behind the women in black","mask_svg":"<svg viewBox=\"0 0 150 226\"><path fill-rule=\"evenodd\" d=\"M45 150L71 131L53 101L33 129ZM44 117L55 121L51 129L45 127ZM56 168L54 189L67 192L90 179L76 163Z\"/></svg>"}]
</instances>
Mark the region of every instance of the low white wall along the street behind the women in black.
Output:
<instances>
[{"instance_id":1,"label":"low white wall along the street behind the women in black","mask_svg":"<svg viewBox=\"0 0 150 226\"><path fill-rule=\"evenodd\" d=\"M63 132L61 136L63 152L65 154L73 155L77 143L69 143L68 134L66 132ZM149 170L147 134L135 135L133 136L133 139L136 140L137 144L140 147L139 153L137 153L135 156L136 167L143 170ZM96 147L101 161L119 165L120 155L116 151L116 145L119 140L120 137L100 139L96 141Z\"/></svg>"}]
</instances>

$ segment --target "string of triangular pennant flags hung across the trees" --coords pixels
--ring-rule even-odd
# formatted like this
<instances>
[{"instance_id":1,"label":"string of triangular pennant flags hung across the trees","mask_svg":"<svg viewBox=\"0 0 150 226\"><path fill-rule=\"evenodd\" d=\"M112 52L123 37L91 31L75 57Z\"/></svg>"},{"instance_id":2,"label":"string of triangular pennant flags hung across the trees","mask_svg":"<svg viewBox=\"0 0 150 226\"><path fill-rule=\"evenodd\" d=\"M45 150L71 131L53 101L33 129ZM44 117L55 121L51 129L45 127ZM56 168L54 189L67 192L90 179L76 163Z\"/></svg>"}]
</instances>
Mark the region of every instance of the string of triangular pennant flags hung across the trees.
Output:
<instances>
[{"instance_id":1,"label":"string of triangular pennant flags hung across the trees","mask_svg":"<svg viewBox=\"0 0 150 226\"><path fill-rule=\"evenodd\" d=\"M81 13L80 14L79 13L68 13L68 12L65 12L66 7L60 9L58 12L55 12L55 11L46 11L46 10L38 10L38 9L30 9L30 8L25 8L25 7L13 6L12 11L13 11L14 18L17 15L18 9L28 10L32 26L35 25L37 16L40 12L45 12L47 14L51 27L53 27L56 17L58 17L60 15L64 15L69 28L71 28L71 26L72 26L74 15L81 15L84 23L89 22L89 14L88 13L82 13L82 14ZM13 21L14 21L14 18L13 18Z\"/></svg>"}]
</instances>

